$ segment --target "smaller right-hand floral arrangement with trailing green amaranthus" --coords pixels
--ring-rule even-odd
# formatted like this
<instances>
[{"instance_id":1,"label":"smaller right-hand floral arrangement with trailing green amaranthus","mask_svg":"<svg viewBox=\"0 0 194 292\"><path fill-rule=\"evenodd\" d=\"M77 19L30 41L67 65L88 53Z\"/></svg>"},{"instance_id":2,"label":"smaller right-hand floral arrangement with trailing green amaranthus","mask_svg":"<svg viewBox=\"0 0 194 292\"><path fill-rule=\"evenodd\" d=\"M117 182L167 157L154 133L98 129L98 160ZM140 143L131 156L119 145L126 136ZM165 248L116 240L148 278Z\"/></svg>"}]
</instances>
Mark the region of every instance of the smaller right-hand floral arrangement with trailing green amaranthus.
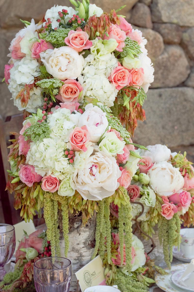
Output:
<instances>
[{"instance_id":1,"label":"smaller right-hand floral arrangement with trailing green amaranthus","mask_svg":"<svg viewBox=\"0 0 194 292\"><path fill-rule=\"evenodd\" d=\"M186 152L171 153L165 145L149 145L138 150L138 170L127 187L132 206L132 221L140 224L143 234L152 237L158 224L165 262L170 267L172 248L180 244L181 222L193 225L194 168ZM111 205L118 218L118 206Z\"/></svg>"}]
</instances>

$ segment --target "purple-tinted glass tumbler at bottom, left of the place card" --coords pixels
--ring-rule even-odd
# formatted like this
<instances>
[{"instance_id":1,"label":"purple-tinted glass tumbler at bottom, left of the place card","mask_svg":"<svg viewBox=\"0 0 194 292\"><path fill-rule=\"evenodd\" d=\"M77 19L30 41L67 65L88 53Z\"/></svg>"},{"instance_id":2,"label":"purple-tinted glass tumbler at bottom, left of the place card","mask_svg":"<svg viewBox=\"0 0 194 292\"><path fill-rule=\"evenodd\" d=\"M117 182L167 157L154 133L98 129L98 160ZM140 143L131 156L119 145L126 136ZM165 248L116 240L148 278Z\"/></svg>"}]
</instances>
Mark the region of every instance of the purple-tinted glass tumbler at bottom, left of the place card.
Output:
<instances>
[{"instance_id":1,"label":"purple-tinted glass tumbler at bottom, left of the place card","mask_svg":"<svg viewBox=\"0 0 194 292\"><path fill-rule=\"evenodd\" d=\"M34 263L37 292L69 292L71 279L71 261L67 258L41 258Z\"/></svg>"}]
</instances>

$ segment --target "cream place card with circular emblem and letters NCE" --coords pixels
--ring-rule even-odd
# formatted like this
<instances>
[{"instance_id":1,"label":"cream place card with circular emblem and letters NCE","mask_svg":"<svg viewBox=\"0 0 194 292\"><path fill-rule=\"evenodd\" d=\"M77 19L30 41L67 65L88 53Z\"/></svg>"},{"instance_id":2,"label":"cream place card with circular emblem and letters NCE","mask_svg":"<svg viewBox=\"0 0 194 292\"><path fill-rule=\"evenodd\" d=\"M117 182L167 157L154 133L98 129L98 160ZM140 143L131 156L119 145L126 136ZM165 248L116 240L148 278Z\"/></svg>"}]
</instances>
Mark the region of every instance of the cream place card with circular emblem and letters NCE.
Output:
<instances>
[{"instance_id":1,"label":"cream place card with circular emblem and letters NCE","mask_svg":"<svg viewBox=\"0 0 194 292\"><path fill-rule=\"evenodd\" d=\"M86 288L96 285L106 285L104 268L100 256L91 260L87 265L75 273L79 280L81 292Z\"/></svg>"}]
</instances>

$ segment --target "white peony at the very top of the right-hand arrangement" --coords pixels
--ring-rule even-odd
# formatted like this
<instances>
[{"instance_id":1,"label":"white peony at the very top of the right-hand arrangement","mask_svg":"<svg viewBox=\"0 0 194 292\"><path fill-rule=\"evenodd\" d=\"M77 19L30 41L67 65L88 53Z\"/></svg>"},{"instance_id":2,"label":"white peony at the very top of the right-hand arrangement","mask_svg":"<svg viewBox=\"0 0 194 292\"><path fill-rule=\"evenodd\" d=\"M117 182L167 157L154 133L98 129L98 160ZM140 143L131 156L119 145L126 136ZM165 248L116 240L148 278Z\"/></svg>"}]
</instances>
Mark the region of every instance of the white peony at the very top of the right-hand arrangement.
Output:
<instances>
[{"instance_id":1,"label":"white peony at the very top of the right-hand arrangement","mask_svg":"<svg viewBox=\"0 0 194 292\"><path fill-rule=\"evenodd\" d=\"M148 145L146 148L148 150L140 150L140 155L149 156L153 163L168 161L170 159L171 151L166 145Z\"/></svg>"}]
</instances>

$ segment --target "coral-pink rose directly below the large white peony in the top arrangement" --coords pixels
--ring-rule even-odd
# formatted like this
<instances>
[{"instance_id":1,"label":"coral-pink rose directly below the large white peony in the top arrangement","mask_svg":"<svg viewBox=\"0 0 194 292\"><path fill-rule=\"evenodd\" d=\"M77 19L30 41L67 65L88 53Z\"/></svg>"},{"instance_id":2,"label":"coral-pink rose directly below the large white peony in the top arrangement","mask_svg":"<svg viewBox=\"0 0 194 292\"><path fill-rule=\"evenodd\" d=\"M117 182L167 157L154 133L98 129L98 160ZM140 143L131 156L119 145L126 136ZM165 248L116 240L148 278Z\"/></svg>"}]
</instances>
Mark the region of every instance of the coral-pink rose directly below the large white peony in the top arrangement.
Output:
<instances>
[{"instance_id":1,"label":"coral-pink rose directly below the large white peony in the top arrangement","mask_svg":"<svg viewBox=\"0 0 194 292\"><path fill-rule=\"evenodd\" d=\"M64 81L56 98L62 102L77 102L82 94L83 87L74 79Z\"/></svg>"}]
</instances>

